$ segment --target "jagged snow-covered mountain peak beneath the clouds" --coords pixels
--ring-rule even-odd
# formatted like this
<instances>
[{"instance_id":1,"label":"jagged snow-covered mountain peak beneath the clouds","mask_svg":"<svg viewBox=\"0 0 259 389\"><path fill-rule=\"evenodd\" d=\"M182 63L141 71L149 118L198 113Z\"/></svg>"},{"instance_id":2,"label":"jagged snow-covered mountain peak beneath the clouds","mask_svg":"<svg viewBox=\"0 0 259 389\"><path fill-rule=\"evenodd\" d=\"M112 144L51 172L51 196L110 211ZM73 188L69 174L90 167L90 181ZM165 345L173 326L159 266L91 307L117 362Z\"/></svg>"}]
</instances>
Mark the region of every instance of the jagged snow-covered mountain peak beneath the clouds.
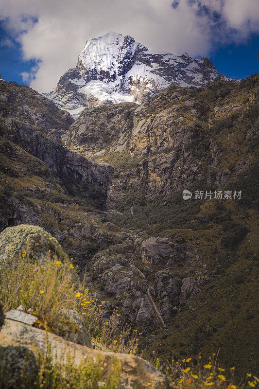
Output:
<instances>
[{"instance_id":1,"label":"jagged snow-covered mountain peak beneath the clouds","mask_svg":"<svg viewBox=\"0 0 259 389\"><path fill-rule=\"evenodd\" d=\"M215 79L227 77L207 58L155 53L131 36L109 32L87 41L77 65L45 96L76 118L85 107L142 103L171 84L202 87Z\"/></svg>"}]
</instances>

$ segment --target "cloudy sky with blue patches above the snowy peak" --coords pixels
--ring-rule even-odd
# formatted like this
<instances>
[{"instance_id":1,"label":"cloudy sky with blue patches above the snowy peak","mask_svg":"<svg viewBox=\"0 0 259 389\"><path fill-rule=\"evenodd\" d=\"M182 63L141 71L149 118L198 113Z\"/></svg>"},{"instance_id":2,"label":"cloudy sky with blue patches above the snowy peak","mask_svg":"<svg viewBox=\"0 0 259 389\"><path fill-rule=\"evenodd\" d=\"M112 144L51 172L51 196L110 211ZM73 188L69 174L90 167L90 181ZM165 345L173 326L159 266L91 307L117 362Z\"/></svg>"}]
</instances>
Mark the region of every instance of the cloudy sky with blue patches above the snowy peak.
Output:
<instances>
[{"instance_id":1,"label":"cloudy sky with blue patches above the snowy peak","mask_svg":"<svg viewBox=\"0 0 259 389\"><path fill-rule=\"evenodd\" d=\"M259 32L259 0L0 0L0 19L40 60L31 86L50 90L74 66L86 39L113 30L150 49L205 56ZM177 5L178 3L178 5ZM37 22L35 23L35 19Z\"/></svg>"}]
</instances>

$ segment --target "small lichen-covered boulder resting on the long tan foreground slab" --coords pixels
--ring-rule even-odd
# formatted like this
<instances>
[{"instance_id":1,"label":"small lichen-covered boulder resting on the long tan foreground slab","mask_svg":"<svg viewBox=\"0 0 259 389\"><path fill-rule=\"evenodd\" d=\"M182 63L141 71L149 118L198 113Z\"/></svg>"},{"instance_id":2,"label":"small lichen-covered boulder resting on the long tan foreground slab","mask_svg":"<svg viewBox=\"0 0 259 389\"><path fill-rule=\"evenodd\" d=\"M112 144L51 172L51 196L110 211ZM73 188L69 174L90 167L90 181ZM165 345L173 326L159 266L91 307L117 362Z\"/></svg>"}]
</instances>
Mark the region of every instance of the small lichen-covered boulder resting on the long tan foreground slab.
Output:
<instances>
[{"instance_id":1,"label":"small lichen-covered boulder resting on the long tan foreground slab","mask_svg":"<svg viewBox=\"0 0 259 389\"><path fill-rule=\"evenodd\" d=\"M86 326L80 315L72 309L60 309L57 313L59 318L57 334L71 342L92 346L92 337L86 330Z\"/></svg>"}]
</instances>

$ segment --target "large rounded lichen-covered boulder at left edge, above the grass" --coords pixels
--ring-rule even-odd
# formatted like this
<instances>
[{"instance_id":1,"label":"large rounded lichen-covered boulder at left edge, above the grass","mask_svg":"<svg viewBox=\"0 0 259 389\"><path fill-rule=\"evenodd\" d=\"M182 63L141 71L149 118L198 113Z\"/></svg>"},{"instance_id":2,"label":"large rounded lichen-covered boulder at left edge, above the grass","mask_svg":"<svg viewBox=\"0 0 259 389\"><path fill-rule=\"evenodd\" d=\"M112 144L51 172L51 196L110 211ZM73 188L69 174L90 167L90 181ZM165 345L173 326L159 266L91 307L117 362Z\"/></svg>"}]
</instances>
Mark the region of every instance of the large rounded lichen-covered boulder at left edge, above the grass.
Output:
<instances>
[{"instance_id":1,"label":"large rounded lichen-covered boulder at left edge, above the grass","mask_svg":"<svg viewBox=\"0 0 259 389\"><path fill-rule=\"evenodd\" d=\"M20 224L8 227L0 233L0 266L9 263L11 258L18 257L19 252L24 251L41 263L44 263L49 254L60 260L67 258L58 241L39 226Z\"/></svg>"}]
</instances>

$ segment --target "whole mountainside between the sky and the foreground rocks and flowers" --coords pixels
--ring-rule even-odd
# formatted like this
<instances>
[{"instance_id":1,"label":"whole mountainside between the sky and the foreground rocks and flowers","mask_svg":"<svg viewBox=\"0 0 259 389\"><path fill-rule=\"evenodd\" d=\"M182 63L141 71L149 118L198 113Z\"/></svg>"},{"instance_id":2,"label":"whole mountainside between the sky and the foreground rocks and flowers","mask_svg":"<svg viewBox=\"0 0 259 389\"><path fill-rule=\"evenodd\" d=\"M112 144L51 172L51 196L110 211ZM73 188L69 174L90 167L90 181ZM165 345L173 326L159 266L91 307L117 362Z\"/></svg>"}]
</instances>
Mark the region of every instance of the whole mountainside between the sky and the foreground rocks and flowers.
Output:
<instances>
[{"instance_id":1,"label":"whole mountainside between the sky and the foreground rocks and flowers","mask_svg":"<svg viewBox=\"0 0 259 389\"><path fill-rule=\"evenodd\" d=\"M0 230L28 224L51 233L104 318L118 310L150 358L220 349L237 374L256 371L259 75L236 82L206 59L170 57L179 66L171 85L169 54L117 39L123 67L113 81L127 73L128 84L112 93L126 100L106 103L119 104L100 105L88 89L79 97L78 87L111 77L85 67L91 41L46 95L57 106L0 80ZM202 76L179 78L184 61ZM136 87L129 72L138 62L163 83L140 78ZM80 116L60 109L68 106Z\"/></svg>"}]
</instances>

